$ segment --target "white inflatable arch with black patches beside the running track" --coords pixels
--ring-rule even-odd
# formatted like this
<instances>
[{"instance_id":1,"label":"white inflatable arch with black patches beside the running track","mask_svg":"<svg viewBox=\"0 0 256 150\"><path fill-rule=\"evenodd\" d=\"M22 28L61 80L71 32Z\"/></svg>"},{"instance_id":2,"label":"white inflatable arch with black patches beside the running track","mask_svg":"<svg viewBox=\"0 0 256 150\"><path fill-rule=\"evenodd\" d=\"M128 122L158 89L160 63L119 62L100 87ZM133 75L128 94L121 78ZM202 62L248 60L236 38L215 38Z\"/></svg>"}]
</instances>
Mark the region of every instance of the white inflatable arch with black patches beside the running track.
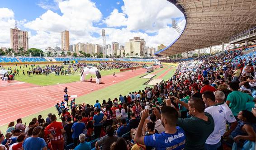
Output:
<instances>
[{"instance_id":1,"label":"white inflatable arch with black patches beside the running track","mask_svg":"<svg viewBox=\"0 0 256 150\"><path fill-rule=\"evenodd\" d=\"M80 81L85 81L85 76L89 74L96 75L96 83L101 83L100 71L96 67L92 66L87 66L84 68L84 70L81 73Z\"/></svg>"}]
</instances>

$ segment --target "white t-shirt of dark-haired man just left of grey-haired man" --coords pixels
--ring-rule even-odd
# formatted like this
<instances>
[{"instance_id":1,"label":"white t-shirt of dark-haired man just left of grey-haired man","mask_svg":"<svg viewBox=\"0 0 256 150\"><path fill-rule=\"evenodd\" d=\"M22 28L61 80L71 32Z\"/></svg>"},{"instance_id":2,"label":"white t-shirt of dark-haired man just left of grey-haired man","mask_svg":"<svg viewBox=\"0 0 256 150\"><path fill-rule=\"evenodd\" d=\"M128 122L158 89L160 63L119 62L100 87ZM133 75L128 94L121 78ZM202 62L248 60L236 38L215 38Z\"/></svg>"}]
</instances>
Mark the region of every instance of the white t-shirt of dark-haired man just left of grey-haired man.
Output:
<instances>
[{"instance_id":1,"label":"white t-shirt of dark-haired man just left of grey-haired man","mask_svg":"<svg viewBox=\"0 0 256 150\"><path fill-rule=\"evenodd\" d=\"M204 112L211 114L214 120L214 130L205 143L210 145L217 144L221 140L220 131L222 129L222 123L226 120L224 111L218 105L213 105L205 108Z\"/></svg>"}]
</instances>

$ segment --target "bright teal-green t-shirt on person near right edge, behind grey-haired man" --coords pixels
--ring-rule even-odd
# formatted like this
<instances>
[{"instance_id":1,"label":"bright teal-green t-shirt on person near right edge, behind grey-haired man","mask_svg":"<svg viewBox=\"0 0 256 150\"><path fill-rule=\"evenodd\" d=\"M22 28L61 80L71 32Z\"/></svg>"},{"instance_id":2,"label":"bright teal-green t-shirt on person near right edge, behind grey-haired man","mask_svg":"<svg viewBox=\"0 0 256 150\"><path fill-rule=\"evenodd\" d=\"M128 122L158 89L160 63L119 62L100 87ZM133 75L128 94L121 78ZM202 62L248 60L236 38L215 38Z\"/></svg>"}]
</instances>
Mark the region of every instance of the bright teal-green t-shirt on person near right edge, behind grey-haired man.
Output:
<instances>
[{"instance_id":1,"label":"bright teal-green t-shirt on person near right edge, behind grey-haired man","mask_svg":"<svg viewBox=\"0 0 256 150\"><path fill-rule=\"evenodd\" d=\"M227 100L230 101L229 107L233 115L237 116L241 110L246 109L247 102L253 101L253 97L240 91L232 91L228 94Z\"/></svg>"}]
</instances>

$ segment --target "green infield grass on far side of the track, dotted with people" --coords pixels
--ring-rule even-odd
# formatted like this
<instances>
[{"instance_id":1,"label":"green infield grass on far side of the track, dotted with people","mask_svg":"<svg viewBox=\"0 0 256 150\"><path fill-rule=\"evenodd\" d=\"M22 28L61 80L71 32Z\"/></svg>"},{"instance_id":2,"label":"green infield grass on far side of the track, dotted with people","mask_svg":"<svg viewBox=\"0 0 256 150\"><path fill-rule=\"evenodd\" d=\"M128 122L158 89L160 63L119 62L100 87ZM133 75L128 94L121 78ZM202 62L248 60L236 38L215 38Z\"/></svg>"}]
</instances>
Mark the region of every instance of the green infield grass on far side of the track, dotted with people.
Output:
<instances>
[{"instance_id":1,"label":"green infield grass on far side of the track, dotted with people","mask_svg":"<svg viewBox=\"0 0 256 150\"><path fill-rule=\"evenodd\" d=\"M47 64L41 64L41 65L38 65L38 66L45 66L45 65L47 65ZM53 64L49 64L49 65L53 65ZM60 64L57 64L57 65L60 65ZM21 66L21 69L20 69L20 66ZM31 76L28 76L27 75L27 70L29 70L29 67L32 70L32 67L30 65L27 68L24 67L24 65L17 65L17 66L11 65L11 66L4 66L4 67L5 67L5 69L7 69L8 67L11 67L12 70L14 70L14 68L19 69L19 76L15 75L15 80L22 81L22 82L27 82L27 83L31 83L31 84L36 84L36 85L41 85L41 86L79 81L80 80L80 75L81 75L79 72L75 72L74 75L59 75L59 76L57 76L57 75L55 75L55 72L53 72L49 76L45 76L43 74L42 75L33 75L33 74L31 74ZM65 69L67 67L68 67L68 65L64 66ZM22 70L25 71L25 75L22 75ZM119 69L102 70L102 71L100 71L100 74L101 74L101 76L104 76L104 75L113 74L113 72L118 73L120 71L119 71ZM92 75L92 77L94 78L95 75ZM90 79L90 76L87 75L86 79Z\"/></svg>"}]
</instances>

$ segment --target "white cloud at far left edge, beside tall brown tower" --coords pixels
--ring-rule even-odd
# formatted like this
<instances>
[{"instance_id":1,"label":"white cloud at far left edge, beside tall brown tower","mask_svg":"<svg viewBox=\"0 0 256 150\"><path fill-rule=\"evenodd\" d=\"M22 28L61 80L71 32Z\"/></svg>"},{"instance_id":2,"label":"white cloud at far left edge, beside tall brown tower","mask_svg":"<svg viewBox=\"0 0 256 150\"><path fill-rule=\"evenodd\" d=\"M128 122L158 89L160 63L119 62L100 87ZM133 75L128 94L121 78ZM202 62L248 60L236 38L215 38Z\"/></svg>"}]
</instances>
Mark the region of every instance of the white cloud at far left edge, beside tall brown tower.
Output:
<instances>
[{"instance_id":1,"label":"white cloud at far left edge, beside tall brown tower","mask_svg":"<svg viewBox=\"0 0 256 150\"><path fill-rule=\"evenodd\" d=\"M14 12L0 8L0 47L10 47L10 28L14 28Z\"/></svg>"}]
</instances>

